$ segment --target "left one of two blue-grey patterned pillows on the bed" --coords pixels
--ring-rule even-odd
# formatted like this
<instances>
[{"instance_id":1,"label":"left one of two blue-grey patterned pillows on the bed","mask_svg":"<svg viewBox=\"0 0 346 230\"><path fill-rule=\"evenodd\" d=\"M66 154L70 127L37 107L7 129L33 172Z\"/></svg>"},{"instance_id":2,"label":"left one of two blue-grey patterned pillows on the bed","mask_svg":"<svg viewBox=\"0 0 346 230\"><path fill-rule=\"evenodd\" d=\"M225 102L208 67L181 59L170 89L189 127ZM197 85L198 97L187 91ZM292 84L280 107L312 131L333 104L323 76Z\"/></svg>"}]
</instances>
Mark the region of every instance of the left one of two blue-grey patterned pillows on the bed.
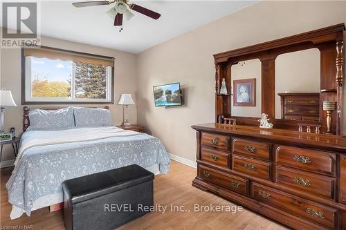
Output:
<instances>
[{"instance_id":1,"label":"left one of two blue-grey patterned pillows on the bed","mask_svg":"<svg viewBox=\"0 0 346 230\"><path fill-rule=\"evenodd\" d=\"M74 128L73 107L45 111L35 109L29 113L30 130Z\"/></svg>"}]
</instances>

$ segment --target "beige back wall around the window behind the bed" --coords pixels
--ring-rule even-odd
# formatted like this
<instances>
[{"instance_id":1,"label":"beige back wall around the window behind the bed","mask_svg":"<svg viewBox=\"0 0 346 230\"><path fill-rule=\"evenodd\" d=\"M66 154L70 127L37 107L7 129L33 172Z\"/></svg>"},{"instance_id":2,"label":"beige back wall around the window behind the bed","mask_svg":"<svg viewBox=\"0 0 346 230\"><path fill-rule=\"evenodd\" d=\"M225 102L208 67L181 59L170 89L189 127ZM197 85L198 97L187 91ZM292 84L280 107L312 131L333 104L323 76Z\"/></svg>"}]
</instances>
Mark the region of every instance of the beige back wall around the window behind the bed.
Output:
<instances>
[{"instance_id":1,"label":"beige back wall around the window behind the bed","mask_svg":"<svg viewBox=\"0 0 346 230\"><path fill-rule=\"evenodd\" d=\"M1 29L1 28L0 28ZM0 30L1 31L1 30ZM88 52L97 55L105 55L115 58L114 66L114 102L113 105L96 105L100 108L109 106L113 124L120 124L122 122L122 106L118 106L118 100L121 93L131 93L134 101L137 102L137 89L136 89L136 55L120 52L118 50L111 50L107 48L100 48L97 46L89 46L86 44L78 44L71 41L61 39L53 39L49 37L42 37L43 46L51 46L55 48L62 48L66 50L74 50L80 52ZM0 75L0 88L6 88L12 91L17 107L8 107L5 112L5 131L10 127L15 127L17 135L21 133L22 122L22 108L21 106L21 50L20 49L1 49L1 75ZM84 105L85 106L85 105ZM95 106L95 105L92 105ZM29 106L30 108L47 107L43 105ZM136 124L137 111L136 105L129 106L129 119L130 122ZM10 146L4 148L2 160L11 160L14 158Z\"/></svg>"}]
</instances>

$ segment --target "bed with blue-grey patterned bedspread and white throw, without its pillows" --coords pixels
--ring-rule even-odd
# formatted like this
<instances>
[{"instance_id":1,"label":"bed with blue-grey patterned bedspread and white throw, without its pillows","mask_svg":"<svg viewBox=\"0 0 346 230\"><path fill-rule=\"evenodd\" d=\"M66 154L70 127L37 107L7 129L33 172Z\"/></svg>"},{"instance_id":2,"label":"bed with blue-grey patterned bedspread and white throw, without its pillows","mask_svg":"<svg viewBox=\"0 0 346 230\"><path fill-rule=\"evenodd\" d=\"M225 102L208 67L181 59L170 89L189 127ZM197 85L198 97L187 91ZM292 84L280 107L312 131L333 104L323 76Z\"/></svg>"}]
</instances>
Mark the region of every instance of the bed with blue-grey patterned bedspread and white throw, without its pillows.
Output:
<instances>
[{"instance_id":1,"label":"bed with blue-grey patterned bedspread and white throw, without its pillows","mask_svg":"<svg viewBox=\"0 0 346 230\"><path fill-rule=\"evenodd\" d=\"M45 108L45 110L47 110ZM82 175L138 164L167 173L170 157L162 142L116 126L33 130L24 107L24 130L15 169L6 184L11 219L63 201L62 182Z\"/></svg>"}]
</instances>

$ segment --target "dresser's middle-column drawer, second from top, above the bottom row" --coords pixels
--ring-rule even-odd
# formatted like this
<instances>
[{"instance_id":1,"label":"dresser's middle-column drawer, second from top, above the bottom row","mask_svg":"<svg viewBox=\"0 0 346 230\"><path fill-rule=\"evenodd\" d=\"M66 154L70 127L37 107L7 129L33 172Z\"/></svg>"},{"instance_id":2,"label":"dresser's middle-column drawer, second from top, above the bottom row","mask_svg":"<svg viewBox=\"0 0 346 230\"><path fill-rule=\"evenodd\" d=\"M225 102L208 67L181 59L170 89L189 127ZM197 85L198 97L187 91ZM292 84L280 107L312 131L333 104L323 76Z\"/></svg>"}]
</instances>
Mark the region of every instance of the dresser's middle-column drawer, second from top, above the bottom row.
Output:
<instances>
[{"instance_id":1,"label":"dresser's middle-column drawer, second from top, above the bottom row","mask_svg":"<svg viewBox=\"0 0 346 230\"><path fill-rule=\"evenodd\" d=\"M232 169L257 178L271 180L271 163L233 155Z\"/></svg>"}]
</instances>

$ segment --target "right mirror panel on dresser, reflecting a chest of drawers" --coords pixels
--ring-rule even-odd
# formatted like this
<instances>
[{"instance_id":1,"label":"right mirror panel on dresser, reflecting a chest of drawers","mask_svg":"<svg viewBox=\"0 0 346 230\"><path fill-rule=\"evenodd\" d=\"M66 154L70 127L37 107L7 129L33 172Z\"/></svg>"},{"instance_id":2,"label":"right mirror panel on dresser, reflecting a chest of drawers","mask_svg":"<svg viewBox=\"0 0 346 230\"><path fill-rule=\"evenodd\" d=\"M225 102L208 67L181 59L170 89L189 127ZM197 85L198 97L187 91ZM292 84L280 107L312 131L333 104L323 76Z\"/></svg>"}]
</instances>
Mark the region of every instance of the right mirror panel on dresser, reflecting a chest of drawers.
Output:
<instances>
[{"instance_id":1,"label":"right mirror panel on dresser, reflecting a chest of drawers","mask_svg":"<svg viewBox=\"0 0 346 230\"><path fill-rule=\"evenodd\" d=\"M275 119L320 120L320 50L311 48L275 59Z\"/></svg>"}]
</instances>

